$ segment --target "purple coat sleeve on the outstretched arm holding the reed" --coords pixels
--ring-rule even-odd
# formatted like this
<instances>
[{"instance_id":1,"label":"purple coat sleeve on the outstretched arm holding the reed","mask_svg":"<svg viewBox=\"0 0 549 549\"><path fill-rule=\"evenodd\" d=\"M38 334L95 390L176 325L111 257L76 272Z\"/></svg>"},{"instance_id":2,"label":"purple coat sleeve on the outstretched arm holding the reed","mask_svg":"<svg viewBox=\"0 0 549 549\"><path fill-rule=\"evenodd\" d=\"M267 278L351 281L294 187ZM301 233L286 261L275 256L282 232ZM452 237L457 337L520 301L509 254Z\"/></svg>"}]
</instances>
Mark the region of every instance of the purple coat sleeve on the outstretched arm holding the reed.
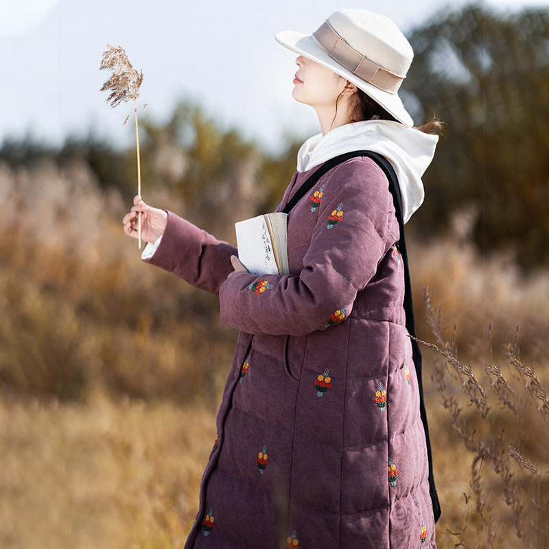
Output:
<instances>
[{"instance_id":1,"label":"purple coat sleeve on the outstretched arm holding the reed","mask_svg":"<svg viewBox=\"0 0 549 549\"><path fill-rule=\"evenodd\" d=\"M159 247L145 261L177 274L196 288L217 294L233 270L231 255L236 255L236 248L171 211L167 214Z\"/></svg>"}]
</instances>

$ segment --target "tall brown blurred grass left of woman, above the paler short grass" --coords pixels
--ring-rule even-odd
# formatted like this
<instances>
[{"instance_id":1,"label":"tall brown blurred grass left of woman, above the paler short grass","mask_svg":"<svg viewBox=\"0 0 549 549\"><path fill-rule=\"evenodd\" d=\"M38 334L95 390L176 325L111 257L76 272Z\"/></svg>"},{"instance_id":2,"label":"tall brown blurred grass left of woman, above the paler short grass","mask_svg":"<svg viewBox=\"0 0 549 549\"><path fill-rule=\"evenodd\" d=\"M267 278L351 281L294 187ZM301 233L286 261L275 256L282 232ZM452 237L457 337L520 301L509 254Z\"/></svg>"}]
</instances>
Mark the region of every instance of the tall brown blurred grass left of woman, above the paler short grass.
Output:
<instances>
[{"instance_id":1,"label":"tall brown blurred grass left of woman, above the paler short grass","mask_svg":"<svg viewBox=\"0 0 549 549\"><path fill-rule=\"evenodd\" d=\"M0 165L0 193L5 388L62 400L97 384L146 398L217 394L235 333L214 296L141 263L121 234L117 191L101 192L84 163L48 161Z\"/></svg>"}]
</instances>

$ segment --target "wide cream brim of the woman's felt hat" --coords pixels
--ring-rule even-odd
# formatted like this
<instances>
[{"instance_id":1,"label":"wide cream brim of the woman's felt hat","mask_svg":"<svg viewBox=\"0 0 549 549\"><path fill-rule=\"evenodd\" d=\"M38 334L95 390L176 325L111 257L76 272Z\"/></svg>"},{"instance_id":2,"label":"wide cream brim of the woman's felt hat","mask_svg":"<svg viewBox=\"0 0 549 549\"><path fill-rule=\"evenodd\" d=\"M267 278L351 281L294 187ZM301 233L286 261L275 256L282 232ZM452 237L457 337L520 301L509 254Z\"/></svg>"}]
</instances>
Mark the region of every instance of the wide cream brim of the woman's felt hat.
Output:
<instances>
[{"instance_id":1,"label":"wide cream brim of the woman's felt hat","mask_svg":"<svg viewBox=\"0 0 549 549\"><path fill-rule=\"evenodd\" d=\"M410 127L414 125L412 117L408 114L400 97L396 93L393 94L380 90L372 84L365 82L362 78L355 76L351 71L345 69L336 60L331 58L327 54L327 51L318 45L311 34L293 30L283 30L278 32L274 38L279 44L295 51L296 54L300 54L307 59L327 67L327 69L330 69L346 80L349 80L351 84L355 84L355 86L364 91L364 93L367 93L373 100L385 108L390 115L393 115L399 122L404 124L404 126Z\"/></svg>"}]
</instances>

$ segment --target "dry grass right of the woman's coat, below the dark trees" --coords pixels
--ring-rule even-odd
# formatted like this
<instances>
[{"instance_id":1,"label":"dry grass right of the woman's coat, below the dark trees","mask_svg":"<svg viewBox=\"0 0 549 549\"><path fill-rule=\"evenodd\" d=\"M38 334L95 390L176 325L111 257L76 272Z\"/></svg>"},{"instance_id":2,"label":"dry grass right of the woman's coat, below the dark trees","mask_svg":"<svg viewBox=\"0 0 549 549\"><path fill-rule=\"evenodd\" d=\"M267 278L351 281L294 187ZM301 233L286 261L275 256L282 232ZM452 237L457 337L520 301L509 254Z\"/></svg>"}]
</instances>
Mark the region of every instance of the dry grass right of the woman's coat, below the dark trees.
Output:
<instances>
[{"instance_id":1,"label":"dry grass right of the woman's coat, below the dark trees","mask_svg":"<svg viewBox=\"0 0 549 549\"><path fill-rule=\"evenodd\" d=\"M441 547L549 546L549 272L483 255L471 212L410 242L414 304L443 514ZM422 288L423 285L423 288Z\"/></svg>"}]
</instances>

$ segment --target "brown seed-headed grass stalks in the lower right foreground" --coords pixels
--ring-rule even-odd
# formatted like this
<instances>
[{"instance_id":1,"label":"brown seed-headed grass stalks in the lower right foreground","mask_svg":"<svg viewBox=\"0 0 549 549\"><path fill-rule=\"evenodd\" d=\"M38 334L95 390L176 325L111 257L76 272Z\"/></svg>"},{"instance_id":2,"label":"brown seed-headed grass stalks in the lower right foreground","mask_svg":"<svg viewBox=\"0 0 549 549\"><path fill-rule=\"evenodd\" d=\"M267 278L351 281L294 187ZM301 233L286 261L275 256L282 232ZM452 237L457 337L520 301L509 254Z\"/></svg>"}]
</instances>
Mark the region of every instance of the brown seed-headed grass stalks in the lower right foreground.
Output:
<instances>
[{"instance_id":1,"label":"brown seed-headed grass stalks in the lower right foreground","mask_svg":"<svg viewBox=\"0 0 549 549\"><path fill-rule=\"evenodd\" d=\"M437 344L420 342L441 357L433 363L433 386L441 397L442 406L452 417L454 429L474 456L469 487L476 506L471 506L470 498L465 495L465 526L459 532L448 530L458 537L454 547L467 547L466 537L469 535L466 536L466 530L470 520L473 525L479 521L482 525L484 543L478 543L477 538L479 548L507 547L504 533L510 533L510 530L521 547L539 548L540 543L546 543L549 530L549 500L544 486L547 459L544 460L543 451L538 451L537 458L544 460L544 465L539 467L524 456L523 450L531 454L538 441L545 441L549 434L546 389L535 369L526 366L520 358L518 331L505 354L511 377L505 377L499 364L484 362L482 379L486 386L482 386L471 366L458 359L456 328L451 340L443 337L441 308L434 309L428 290L422 290L428 323ZM458 385L452 384L452 380ZM488 405L489 397L494 403L491 406ZM463 417L465 408L469 408L466 418ZM489 465L497 480L500 498L493 501L496 487L493 480L487 478L489 471L485 465ZM498 516L498 502L507 509L504 517Z\"/></svg>"}]
</instances>

